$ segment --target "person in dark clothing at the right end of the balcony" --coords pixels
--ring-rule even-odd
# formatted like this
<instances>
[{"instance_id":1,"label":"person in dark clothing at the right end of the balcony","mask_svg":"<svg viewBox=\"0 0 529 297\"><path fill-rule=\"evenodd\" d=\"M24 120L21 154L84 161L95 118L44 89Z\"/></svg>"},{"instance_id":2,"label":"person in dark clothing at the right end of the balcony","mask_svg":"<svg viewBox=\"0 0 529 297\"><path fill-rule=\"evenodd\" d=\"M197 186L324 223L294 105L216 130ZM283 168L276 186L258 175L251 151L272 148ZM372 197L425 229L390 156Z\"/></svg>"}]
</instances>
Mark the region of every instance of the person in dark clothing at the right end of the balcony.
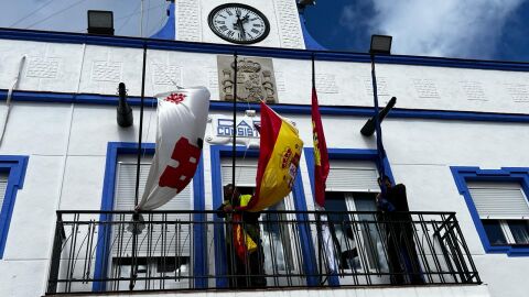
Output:
<instances>
[{"instance_id":1,"label":"person in dark clothing at the right end of the balcony","mask_svg":"<svg viewBox=\"0 0 529 297\"><path fill-rule=\"evenodd\" d=\"M386 187L386 190L377 196L377 209L381 212L379 221L386 229L391 284L422 284L424 280L413 241L413 220L410 213L407 213L410 209L406 186L392 186L387 176L379 178L378 183L380 187Z\"/></svg>"}]
</instances>

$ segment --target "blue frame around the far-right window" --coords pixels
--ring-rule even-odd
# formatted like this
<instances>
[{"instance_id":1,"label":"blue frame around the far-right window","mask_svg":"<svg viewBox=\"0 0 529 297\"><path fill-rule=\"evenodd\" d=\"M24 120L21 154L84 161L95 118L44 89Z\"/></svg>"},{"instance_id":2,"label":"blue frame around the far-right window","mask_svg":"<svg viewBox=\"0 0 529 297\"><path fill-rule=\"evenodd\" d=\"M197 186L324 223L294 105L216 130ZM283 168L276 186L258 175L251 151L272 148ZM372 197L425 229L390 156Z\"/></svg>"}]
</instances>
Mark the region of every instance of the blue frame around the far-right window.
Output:
<instances>
[{"instance_id":1,"label":"blue frame around the far-right window","mask_svg":"<svg viewBox=\"0 0 529 297\"><path fill-rule=\"evenodd\" d=\"M509 228L515 237L517 231L527 233L527 230L529 230L529 218L527 220L509 220L501 223L481 218L468 187L469 182L517 183L520 185L527 198L529 197L529 168L503 167L500 169L481 169L479 167L452 166L451 170L457 190L463 195L466 206L468 207L485 252L504 253L509 256L529 255L528 244L508 243L503 231L503 228ZM519 230L520 228L525 230Z\"/></svg>"}]
</instances>

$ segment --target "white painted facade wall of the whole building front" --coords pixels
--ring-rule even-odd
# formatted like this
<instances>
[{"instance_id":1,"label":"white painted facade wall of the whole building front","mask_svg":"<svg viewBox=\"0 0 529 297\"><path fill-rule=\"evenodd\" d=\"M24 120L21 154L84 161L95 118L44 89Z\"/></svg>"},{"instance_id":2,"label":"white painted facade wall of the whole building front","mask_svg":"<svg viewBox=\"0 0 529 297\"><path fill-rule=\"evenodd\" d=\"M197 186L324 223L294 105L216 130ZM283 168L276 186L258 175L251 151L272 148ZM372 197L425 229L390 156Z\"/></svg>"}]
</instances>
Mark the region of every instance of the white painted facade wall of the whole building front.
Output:
<instances>
[{"instance_id":1,"label":"white painted facade wall of the whole building front","mask_svg":"<svg viewBox=\"0 0 529 297\"><path fill-rule=\"evenodd\" d=\"M83 45L0 41L0 89L10 86L20 56L26 54L30 57L42 57L44 62L31 64L31 58L29 59L23 69L20 89L76 92L78 88L79 92L115 95L117 84L125 81L130 95L139 95L141 50L88 45L84 57L83 53ZM278 79L282 79L278 82L282 86L280 102L309 105L310 62L274 59L273 63L276 72L280 73ZM149 51L149 96L172 88L171 84L156 76L156 67L165 67L165 72L174 79L180 79L179 84L184 86L208 86L213 99L218 98L215 55ZM97 69L106 69L106 73L98 73ZM381 78L382 101L397 96L397 106L401 108L527 113L529 107L529 100L523 99L523 96L528 96L523 95L523 86L527 86L525 81L528 79L526 73L402 65L379 65L377 69ZM322 105L371 106L368 64L319 62L316 70L321 74L320 82L326 81L319 86ZM435 95L438 98L434 98ZM210 114L230 117L227 112L218 111L212 111ZM284 116L296 122L305 146L312 146L310 118ZM143 141L154 142L156 124L153 109L145 109L144 120ZM359 134L365 121L365 118L357 117L324 116L327 146L374 148L374 140ZM120 129L116 123L116 107L13 102L0 154L29 155L30 160L24 188L17 196L4 256L0 260L0 296L39 296L44 293L55 210L100 209L107 143L136 142L138 127L139 108L134 108L134 127ZM488 284L493 296L525 295L523 275L529 258L484 253L466 204L457 193L449 167L529 167L526 153L529 147L528 128L529 124L522 123L391 118L384 122L385 145L391 169L397 182L407 185L410 208L457 212L482 279ZM207 144L204 148L204 164L206 208L214 209L217 206L212 201ZM302 157L305 197L312 201L307 170L305 158ZM311 204L309 208L312 208ZM465 288L442 289L457 296L483 296L487 290L486 287ZM389 292L333 290L333 294L338 294L337 292L344 296L382 296L402 292L449 296L441 289L430 287ZM311 295L316 292L291 294Z\"/></svg>"}]
</instances>

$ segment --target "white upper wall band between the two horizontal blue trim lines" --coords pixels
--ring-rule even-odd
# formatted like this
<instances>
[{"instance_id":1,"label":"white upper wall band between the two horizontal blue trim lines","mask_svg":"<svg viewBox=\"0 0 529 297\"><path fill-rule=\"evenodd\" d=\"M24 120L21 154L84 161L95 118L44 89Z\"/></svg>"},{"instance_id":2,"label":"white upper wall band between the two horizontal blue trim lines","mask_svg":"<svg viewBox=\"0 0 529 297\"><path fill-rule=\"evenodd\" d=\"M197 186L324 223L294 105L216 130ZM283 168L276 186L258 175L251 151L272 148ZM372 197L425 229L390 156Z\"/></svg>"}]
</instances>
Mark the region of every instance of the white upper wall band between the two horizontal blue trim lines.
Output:
<instances>
[{"instance_id":1,"label":"white upper wall band between the two horizontal blue trim lines","mask_svg":"<svg viewBox=\"0 0 529 297\"><path fill-rule=\"evenodd\" d=\"M140 95L142 50L0 40L0 89L11 87L23 55L21 90L116 95L123 81ZM201 85L218 100L216 55L151 50L147 65L147 96ZM273 67L279 102L310 103L310 61L274 58ZM529 110L529 73L378 64L377 77L381 105L396 96L407 109ZM373 106L367 63L316 62L316 87L322 106Z\"/></svg>"}]
</instances>

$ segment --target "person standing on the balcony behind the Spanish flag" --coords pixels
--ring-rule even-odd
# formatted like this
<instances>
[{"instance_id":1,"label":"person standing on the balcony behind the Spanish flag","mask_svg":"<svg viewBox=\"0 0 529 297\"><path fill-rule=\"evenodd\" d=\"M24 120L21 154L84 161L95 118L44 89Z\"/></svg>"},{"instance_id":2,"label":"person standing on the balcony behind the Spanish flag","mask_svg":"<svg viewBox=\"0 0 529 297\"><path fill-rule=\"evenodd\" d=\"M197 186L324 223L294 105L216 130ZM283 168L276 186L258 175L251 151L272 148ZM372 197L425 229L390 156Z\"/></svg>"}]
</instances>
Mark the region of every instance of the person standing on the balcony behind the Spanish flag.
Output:
<instances>
[{"instance_id":1,"label":"person standing on the balcony behind the Spanish flag","mask_svg":"<svg viewBox=\"0 0 529 297\"><path fill-rule=\"evenodd\" d=\"M230 287L264 287L264 253L261 244L259 217L260 212L237 211L238 207L247 206L251 195L240 195L234 185L224 187L224 202L217 209L219 218L226 218L226 246ZM257 244L255 249L246 246L246 253L240 255L234 244L234 230L241 226L244 232Z\"/></svg>"}]
</instances>

